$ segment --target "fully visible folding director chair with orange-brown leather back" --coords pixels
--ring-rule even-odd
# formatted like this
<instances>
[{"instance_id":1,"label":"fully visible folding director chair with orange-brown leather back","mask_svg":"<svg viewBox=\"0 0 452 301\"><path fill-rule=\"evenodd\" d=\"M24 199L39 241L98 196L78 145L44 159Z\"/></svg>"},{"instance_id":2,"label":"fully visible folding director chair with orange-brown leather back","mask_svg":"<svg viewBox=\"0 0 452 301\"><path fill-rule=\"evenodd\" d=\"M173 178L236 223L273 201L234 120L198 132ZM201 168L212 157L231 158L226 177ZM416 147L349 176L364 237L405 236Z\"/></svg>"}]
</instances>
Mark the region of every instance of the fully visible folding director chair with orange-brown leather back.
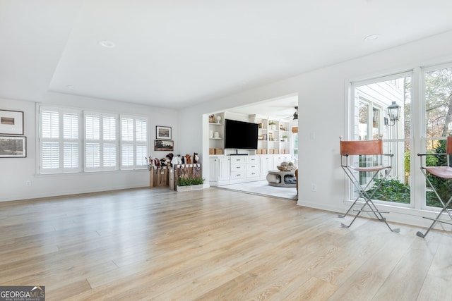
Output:
<instances>
[{"instance_id":1,"label":"fully visible folding director chair with orange-brown leather back","mask_svg":"<svg viewBox=\"0 0 452 301\"><path fill-rule=\"evenodd\" d=\"M340 214L339 217L347 216L347 214L355 208L355 205L359 205L357 207L358 209L354 209L354 211L357 211L357 214L355 214L355 217L348 226L344 223L340 223L340 226L349 228L361 212L371 212L376 219L384 221L389 230L392 232L399 232L400 229L392 229L382 215L382 213L389 212L379 211L372 201L375 192L379 190L383 180L390 174L393 154L383 154L383 140L342 141L342 137L340 137L340 139L340 166L343 168L348 178L350 178L350 181L359 194L347 212L343 215ZM365 164L367 166L359 166L359 159L363 158L360 156L367 156L367 158L371 159L371 162ZM388 156L389 164L384 164L383 156ZM362 172L370 175L370 179L366 180L364 185L359 182L359 173ZM382 175L383 178L381 178L380 183L374 188L373 192L369 194L367 190L371 188L371 185L374 185L374 180L379 175Z\"/></svg>"}]
</instances>

